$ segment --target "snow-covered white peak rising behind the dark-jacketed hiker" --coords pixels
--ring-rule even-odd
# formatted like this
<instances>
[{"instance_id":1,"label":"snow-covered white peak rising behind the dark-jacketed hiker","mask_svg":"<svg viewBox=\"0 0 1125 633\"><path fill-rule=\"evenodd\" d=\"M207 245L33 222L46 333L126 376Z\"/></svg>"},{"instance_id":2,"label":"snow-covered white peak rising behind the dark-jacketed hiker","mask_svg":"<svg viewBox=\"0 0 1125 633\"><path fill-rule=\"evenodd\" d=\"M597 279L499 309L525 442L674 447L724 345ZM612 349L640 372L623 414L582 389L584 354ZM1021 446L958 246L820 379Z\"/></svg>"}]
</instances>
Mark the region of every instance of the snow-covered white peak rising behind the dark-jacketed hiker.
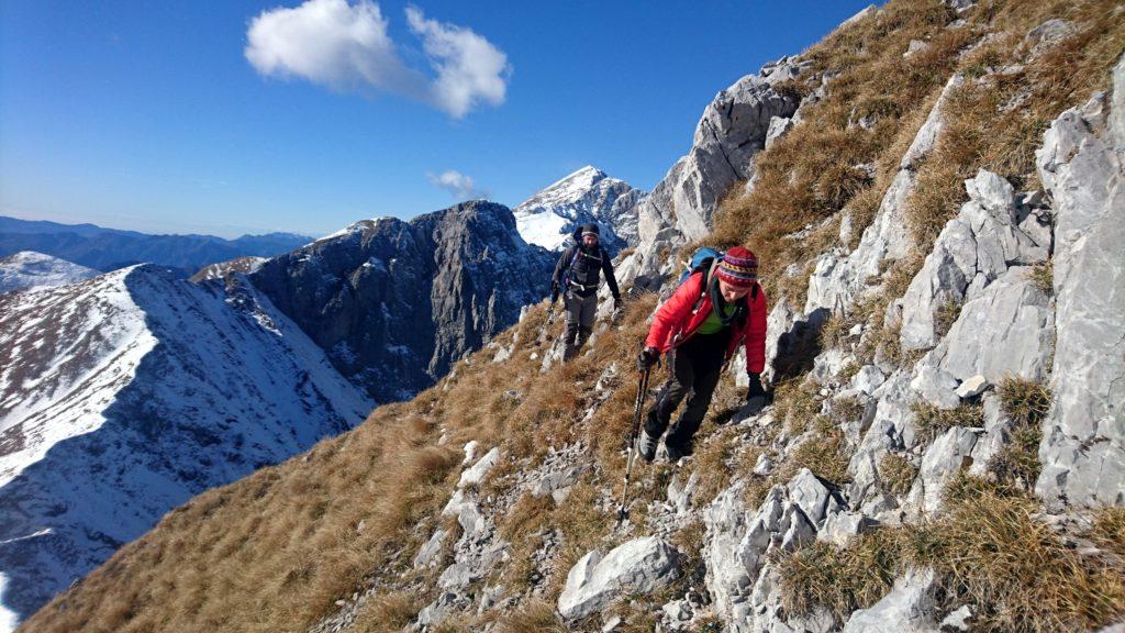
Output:
<instances>
[{"instance_id":1,"label":"snow-covered white peak rising behind the dark-jacketed hiker","mask_svg":"<svg viewBox=\"0 0 1125 633\"><path fill-rule=\"evenodd\" d=\"M595 222L611 251L637 241L637 209L645 193L586 166L512 209L528 243L561 250L579 224Z\"/></svg>"}]
</instances>

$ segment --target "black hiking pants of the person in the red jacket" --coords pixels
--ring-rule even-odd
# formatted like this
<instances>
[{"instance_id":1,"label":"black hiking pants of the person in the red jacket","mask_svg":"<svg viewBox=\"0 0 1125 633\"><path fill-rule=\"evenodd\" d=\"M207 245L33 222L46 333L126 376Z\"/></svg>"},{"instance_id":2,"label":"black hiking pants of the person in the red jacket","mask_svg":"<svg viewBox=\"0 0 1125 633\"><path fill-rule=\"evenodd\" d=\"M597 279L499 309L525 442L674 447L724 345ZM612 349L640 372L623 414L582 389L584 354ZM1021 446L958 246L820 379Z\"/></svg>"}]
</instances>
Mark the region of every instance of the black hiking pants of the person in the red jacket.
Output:
<instances>
[{"instance_id":1,"label":"black hiking pants of the person in the red jacket","mask_svg":"<svg viewBox=\"0 0 1125 633\"><path fill-rule=\"evenodd\" d=\"M687 396L684 411L664 443L682 454L691 454L692 439L703 422L711 404L711 395L719 384L729 340L730 329L723 328L713 335L695 335L668 354L672 376L660 389L645 420L645 433L649 437L659 439L668 428L672 413Z\"/></svg>"}]
</instances>

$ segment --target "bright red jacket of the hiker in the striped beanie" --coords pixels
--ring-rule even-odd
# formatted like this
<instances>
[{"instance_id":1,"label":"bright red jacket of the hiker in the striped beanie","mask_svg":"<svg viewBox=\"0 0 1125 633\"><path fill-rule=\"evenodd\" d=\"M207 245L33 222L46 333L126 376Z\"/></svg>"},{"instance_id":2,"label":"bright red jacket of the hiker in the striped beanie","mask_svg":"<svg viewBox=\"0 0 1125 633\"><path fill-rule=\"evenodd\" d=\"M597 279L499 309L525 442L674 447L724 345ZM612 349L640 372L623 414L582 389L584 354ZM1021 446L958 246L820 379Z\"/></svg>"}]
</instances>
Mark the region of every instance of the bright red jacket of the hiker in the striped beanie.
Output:
<instances>
[{"instance_id":1,"label":"bright red jacket of the hiker in the striped beanie","mask_svg":"<svg viewBox=\"0 0 1125 633\"><path fill-rule=\"evenodd\" d=\"M692 307L700 300L702 279L702 273L693 273L660 304L652 316L652 327L648 330L645 347L654 347L663 354L680 347L699 330L711 314L711 297L705 295L699 310L692 313ZM746 295L747 301L750 301L750 294ZM750 303L750 314L745 323L736 321L730 326L734 332L724 360L730 360L741 344L746 346L746 371L752 374L762 373L766 366L766 293L758 286L757 297Z\"/></svg>"}]
</instances>

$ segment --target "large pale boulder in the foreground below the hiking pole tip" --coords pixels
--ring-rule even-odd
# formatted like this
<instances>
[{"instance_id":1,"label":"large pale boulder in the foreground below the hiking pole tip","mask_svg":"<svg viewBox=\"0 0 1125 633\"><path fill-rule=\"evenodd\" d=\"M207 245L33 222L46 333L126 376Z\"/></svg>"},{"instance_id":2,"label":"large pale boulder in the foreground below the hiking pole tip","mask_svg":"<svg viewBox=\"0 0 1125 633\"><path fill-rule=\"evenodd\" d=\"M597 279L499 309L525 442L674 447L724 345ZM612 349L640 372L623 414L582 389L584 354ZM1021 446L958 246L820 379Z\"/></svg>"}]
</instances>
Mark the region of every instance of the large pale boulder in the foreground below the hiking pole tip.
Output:
<instances>
[{"instance_id":1,"label":"large pale boulder in the foreground below the hiking pole tip","mask_svg":"<svg viewBox=\"0 0 1125 633\"><path fill-rule=\"evenodd\" d=\"M559 614L577 619L627 594L651 594L680 576L680 554L666 542L646 536L614 547L604 558L590 552L567 574Z\"/></svg>"}]
</instances>

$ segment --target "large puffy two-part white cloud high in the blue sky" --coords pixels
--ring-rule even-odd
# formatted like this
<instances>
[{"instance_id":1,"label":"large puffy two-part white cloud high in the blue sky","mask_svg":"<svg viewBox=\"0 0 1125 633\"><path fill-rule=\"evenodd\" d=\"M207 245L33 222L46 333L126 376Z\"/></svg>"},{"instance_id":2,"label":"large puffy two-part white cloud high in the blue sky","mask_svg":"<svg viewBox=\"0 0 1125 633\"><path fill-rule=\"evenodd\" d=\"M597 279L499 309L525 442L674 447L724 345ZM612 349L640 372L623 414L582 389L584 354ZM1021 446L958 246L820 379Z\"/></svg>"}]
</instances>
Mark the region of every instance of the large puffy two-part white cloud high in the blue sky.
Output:
<instances>
[{"instance_id":1,"label":"large puffy two-part white cloud high in the blue sky","mask_svg":"<svg viewBox=\"0 0 1125 633\"><path fill-rule=\"evenodd\" d=\"M371 0L306 0L262 11L246 30L246 60L264 77L299 77L336 90L390 92L461 118L482 104L504 102L507 56L471 29L426 19L406 21L436 77L411 68Z\"/></svg>"}]
</instances>

